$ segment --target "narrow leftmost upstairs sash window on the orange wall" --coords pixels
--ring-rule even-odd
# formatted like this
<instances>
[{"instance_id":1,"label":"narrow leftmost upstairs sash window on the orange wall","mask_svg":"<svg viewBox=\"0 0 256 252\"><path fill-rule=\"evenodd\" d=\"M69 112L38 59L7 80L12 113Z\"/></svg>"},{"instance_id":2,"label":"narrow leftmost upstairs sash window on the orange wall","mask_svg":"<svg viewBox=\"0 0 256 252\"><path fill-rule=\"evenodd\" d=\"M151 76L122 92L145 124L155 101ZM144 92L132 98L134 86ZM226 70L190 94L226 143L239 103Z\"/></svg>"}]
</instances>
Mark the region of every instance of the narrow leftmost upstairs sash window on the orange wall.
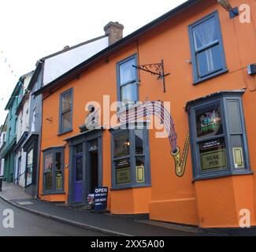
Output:
<instances>
[{"instance_id":1,"label":"narrow leftmost upstairs sash window on the orange wall","mask_svg":"<svg viewBox=\"0 0 256 252\"><path fill-rule=\"evenodd\" d=\"M72 131L72 89L61 94L59 134Z\"/></svg>"}]
</instances>

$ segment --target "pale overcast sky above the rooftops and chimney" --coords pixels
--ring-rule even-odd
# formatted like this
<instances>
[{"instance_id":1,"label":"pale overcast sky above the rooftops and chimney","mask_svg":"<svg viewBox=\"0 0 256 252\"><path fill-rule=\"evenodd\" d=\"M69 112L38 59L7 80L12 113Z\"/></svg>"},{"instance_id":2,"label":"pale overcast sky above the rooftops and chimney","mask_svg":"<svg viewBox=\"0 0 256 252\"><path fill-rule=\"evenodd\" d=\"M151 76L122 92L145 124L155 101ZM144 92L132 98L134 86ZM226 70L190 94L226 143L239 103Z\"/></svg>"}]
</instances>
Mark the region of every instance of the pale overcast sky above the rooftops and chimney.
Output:
<instances>
[{"instance_id":1,"label":"pale overcast sky above the rooftops and chimney","mask_svg":"<svg viewBox=\"0 0 256 252\"><path fill-rule=\"evenodd\" d=\"M46 55L103 35L111 20L124 36L184 0L8 0L0 3L0 124L19 76ZM143 10L143 11L142 11Z\"/></svg>"}]
</instances>

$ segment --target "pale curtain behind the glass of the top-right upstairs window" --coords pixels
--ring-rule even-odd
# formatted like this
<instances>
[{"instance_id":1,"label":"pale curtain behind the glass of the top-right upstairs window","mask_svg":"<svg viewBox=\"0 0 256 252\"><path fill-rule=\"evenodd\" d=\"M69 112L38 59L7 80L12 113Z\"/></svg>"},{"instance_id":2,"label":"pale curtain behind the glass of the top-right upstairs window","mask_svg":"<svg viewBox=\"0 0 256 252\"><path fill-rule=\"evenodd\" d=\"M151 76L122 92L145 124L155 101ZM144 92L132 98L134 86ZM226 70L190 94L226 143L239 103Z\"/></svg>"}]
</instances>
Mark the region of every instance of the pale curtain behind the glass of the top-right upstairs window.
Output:
<instances>
[{"instance_id":1,"label":"pale curtain behind the glass of the top-right upstairs window","mask_svg":"<svg viewBox=\"0 0 256 252\"><path fill-rule=\"evenodd\" d=\"M195 27L194 37L196 50L200 50L202 47L210 45L210 43L213 43L215 40L217 40L215 20L210 19ZM212 48L206 50L205 53L208 72L212 72L214 70Z\"/></svg>"}]
</instances>

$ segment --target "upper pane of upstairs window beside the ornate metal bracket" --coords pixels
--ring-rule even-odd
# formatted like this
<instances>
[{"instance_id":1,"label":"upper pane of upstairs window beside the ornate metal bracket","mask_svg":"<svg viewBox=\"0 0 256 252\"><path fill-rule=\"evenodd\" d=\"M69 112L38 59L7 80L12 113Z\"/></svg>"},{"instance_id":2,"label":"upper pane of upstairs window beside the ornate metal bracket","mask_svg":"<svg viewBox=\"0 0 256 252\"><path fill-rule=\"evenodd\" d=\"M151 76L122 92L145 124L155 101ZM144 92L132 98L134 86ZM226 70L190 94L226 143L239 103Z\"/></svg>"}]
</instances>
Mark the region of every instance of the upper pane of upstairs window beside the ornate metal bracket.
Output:
<instances>
[{"instance_id":1,"label":"upper pane of upstairs window beside the ornate metal bracket","mask_svg":"<svg viewBox=\"0 0 256 252\"><path fill-rule=\"evenodd\" d=\"M132 67L135 64L135 58L130 61L127 61L120 65L120 84L133 82L136 80L136 69Z\"/></svg>"}]
</instances>

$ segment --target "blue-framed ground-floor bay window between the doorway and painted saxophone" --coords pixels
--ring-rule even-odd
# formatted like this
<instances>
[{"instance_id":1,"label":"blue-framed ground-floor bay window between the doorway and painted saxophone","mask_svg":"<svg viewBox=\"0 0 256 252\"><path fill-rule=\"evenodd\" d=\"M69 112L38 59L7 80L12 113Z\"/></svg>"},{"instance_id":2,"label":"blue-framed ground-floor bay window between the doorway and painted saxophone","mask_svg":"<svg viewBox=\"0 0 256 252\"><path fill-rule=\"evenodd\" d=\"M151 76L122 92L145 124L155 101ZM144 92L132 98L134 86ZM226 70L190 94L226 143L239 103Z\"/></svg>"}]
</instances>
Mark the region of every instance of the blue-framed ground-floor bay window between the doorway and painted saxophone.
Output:
<instances>
[{"instance_id":1,"label":"blue-framed ground-floor bay window between the doorway and painted saxophone","mask_svg":"<svg viewBox=\"0 0 256 252\"><path fill-rule=\"evenodd\" d=\"M150 187L146 128L112 131L113 189Z\"/></svg>"}]
</instances>

